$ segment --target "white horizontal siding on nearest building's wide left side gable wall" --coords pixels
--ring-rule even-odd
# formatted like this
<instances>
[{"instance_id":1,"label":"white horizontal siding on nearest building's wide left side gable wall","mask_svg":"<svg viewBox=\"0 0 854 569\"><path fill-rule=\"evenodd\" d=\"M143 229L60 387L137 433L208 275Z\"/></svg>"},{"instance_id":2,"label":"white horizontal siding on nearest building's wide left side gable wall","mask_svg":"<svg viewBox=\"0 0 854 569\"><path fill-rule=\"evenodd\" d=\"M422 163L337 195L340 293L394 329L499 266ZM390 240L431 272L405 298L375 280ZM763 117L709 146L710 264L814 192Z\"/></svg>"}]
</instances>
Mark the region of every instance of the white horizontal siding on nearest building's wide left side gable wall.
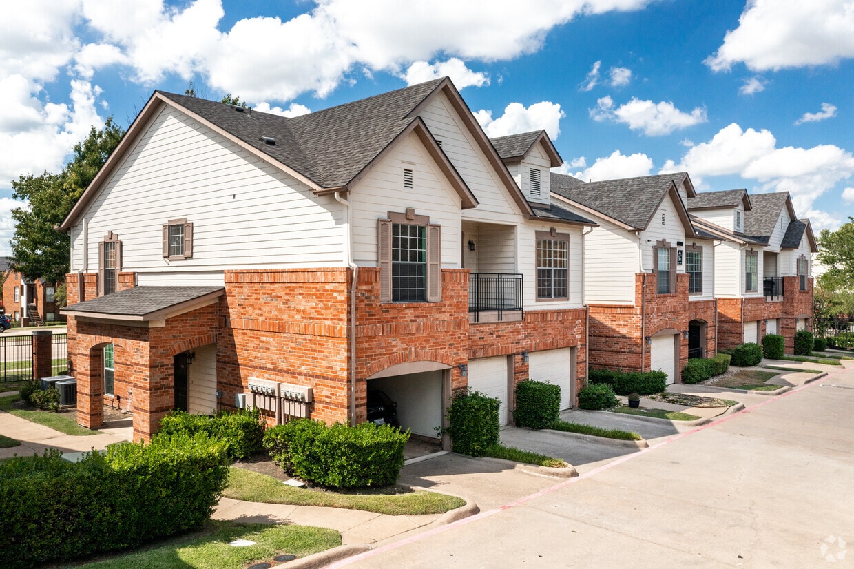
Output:
<instances>
[{"instance_id":1,"label":"white horizontal siding on nearest building's wide left side gable wall","mask_svg":"<svg viewBox=\"0 0 854 569\"><path fill-rule=\"evenodd\" d=\"M122 266L140 274L212 273L221 267L329 267L345 262L340 204L260 161L190 117L165 107L93 199L88 265L97 243L119 234ZM161 226L194 224L194 255L165 261ZM72 271L83 265L82 220ZM181 281L173 280L173 284Z\"/></svg>"}]
</instances>

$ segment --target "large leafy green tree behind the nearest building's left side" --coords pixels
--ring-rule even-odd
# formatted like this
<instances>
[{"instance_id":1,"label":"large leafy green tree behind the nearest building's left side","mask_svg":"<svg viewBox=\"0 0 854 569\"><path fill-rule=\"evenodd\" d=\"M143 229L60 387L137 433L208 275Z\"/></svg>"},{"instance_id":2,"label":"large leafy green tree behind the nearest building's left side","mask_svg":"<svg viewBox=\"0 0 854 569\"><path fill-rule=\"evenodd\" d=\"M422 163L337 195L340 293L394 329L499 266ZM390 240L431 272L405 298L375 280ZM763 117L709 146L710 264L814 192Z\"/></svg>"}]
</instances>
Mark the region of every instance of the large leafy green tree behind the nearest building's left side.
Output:
<instances>
[{"instance_id":1,"label":"large leafy green tree behind the nearest building's left side","mask_svg":"<svg viewBox=\"0 0 854 569\"><path fill-rule=\"evenodd\" d=\"M73 156L61 173L21 176L12 182L15 199L26 206L12 210L15 234L11 241L11 265L27 279L60 281L68 272L68 235L55 227L64 220L98 173L125 131L113 117L101 130L74 145Z\"/></svg>"}]
</instances>

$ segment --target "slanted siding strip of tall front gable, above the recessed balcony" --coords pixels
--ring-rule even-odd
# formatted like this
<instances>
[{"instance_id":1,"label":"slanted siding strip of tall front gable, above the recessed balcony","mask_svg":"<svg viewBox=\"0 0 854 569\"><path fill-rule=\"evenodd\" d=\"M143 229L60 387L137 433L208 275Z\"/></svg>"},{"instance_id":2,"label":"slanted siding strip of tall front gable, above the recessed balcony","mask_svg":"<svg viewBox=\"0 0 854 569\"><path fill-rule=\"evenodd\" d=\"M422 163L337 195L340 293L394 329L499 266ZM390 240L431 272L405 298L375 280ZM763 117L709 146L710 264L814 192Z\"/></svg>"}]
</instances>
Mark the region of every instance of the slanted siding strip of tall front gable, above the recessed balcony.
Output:
<instances>
[{"instance_id":1,"label":"slanted siding strip of tall front gable, above the recessed balcony","mask_svg":"<svg viewBox=\"0 0 854 569\"><path fill-rule=\"evenodd\" d=\"M486 155L475 143L471 133L451 107L447 97L440 93L421 111L430 132L442 140L442 151L453 162L459 175L465 179L469 189L477 197L479 205L466 209L466 219L518 222L518 206L512 202L500 177L487 161ZM544 178L547 178L544 173Z\"/></svg>"}]
</instances>

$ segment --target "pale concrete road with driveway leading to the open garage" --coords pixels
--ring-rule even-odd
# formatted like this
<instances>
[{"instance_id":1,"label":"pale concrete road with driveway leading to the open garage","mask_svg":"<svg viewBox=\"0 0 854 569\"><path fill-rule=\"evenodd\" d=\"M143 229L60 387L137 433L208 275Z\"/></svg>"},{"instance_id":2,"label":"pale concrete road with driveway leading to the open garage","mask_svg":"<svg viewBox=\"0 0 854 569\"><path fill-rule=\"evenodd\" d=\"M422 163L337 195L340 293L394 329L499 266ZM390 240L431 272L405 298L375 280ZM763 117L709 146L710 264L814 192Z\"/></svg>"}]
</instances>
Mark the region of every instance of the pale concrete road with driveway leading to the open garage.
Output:
<instances>
[{"instance_id":1,"label":"pale concrete road with driveway leading to the open garage","mask_svg":"<svg viewBox=\"0 0 854 569\"><path fill-rule=\"evenodd\" d=\"M649 449L590 455L578 478L517 484L448 457L404 474L481 513L336 566L854 566L851 367Z\"/></svg>"}]
</instances>

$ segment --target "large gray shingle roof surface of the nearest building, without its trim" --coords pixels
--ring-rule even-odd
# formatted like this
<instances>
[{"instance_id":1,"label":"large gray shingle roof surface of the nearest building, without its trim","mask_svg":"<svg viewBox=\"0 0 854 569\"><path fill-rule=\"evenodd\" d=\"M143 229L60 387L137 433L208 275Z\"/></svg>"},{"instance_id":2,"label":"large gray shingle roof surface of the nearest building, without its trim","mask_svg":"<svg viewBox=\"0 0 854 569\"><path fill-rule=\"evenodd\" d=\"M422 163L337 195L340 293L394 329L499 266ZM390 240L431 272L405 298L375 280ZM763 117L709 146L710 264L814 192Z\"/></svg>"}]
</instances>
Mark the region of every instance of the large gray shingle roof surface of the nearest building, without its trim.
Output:
<instances>
[{"instance_id":1,"label":"large gray shingle roof surface of the nearest building, without its trim","mask_svg":"<svg viewBox=\"0 0 854 569\"><path fill-rule=\"evenodd\" d=\"M408 115L444 79L435 79L295 118L158 91L317 185L346 185L411 122ZM266 144L261 137L274 138Z\"/></svg>"}]
</instances>

